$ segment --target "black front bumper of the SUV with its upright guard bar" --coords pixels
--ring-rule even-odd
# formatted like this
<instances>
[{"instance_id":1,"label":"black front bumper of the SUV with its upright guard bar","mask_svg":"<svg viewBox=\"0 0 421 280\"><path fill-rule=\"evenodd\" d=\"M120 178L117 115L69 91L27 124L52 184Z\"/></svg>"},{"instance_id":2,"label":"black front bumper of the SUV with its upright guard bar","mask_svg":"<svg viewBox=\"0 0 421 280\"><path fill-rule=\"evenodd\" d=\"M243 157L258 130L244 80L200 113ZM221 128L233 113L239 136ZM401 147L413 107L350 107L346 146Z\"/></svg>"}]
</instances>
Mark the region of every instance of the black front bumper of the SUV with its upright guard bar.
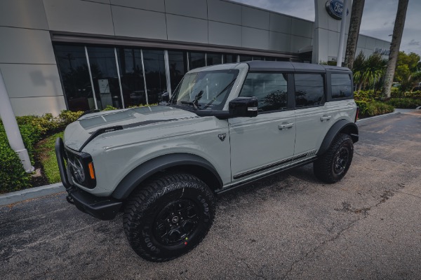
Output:
<instances>
[{"instance_id":1,"label":"black front bumper of the SUV with its upright guard bar","mask_svg":"<svg viewBox=\"0 0 421 280\"><path fill-rule=\"evenodd\" d=\"M74 204L80 211L100 220L112 220L119 213L123 202L112 197L96 197L76 186L73 186L67 176L65 165L65 146L59 137L55 141L55 155L63 186L67 191L67 201Z\"/></svg>"}]
</instances>

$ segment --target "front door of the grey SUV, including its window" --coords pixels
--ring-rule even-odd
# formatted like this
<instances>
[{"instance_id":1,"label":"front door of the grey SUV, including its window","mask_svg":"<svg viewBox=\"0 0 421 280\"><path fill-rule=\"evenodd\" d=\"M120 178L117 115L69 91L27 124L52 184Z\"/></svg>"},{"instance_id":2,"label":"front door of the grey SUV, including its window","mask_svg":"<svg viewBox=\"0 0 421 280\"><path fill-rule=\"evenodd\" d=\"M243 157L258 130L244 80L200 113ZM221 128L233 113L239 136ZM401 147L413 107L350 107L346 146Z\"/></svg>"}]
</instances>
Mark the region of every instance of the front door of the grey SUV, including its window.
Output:
<instances>
[{"instance_id":1,"label":"front door of the grey SUV, including its window","mask_svg":"<svg viewBox=\"0 0 421 280\"><path fill-rule=\"evenodd\" d=\"M255 118L229 119L233 181L242 181L287 165L295 145L293 78L288 73L248 73L240 97L257 97Z\"/></svg>"}]
</instances>

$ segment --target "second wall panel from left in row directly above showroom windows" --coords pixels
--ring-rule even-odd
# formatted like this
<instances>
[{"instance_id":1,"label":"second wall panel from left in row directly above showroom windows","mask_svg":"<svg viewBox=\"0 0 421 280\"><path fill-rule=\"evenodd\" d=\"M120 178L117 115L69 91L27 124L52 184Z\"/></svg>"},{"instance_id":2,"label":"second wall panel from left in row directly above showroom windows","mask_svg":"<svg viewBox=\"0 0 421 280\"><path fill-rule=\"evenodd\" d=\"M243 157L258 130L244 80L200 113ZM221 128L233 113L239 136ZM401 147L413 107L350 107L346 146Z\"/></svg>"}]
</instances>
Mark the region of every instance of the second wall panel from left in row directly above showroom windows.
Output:
<instances>
[{"instance_id":1,"label":"second wall panel from left in row directly above showroom windows","mask_svg":"<svg viewBox=\"0 0 421 280\"><path fill-rule=\"evenodd\" d=\"M164 13L112 6L116 36L167 39Z\"/></svg>"}]
</instances>

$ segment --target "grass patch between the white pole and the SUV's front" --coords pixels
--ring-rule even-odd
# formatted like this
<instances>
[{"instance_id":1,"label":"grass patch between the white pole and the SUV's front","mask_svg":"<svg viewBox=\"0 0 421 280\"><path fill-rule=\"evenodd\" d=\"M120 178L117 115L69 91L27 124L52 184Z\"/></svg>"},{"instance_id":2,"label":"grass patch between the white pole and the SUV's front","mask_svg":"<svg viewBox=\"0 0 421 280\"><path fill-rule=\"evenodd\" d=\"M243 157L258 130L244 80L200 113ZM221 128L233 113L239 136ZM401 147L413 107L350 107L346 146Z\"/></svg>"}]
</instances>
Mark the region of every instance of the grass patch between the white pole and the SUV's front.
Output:
<instances>
[{"instance_id":1,"label":"grass patch between the white pole and the SUV's front","mask_svg":"<svg viewBox=\"0 0 421 280\"><path fill-rule=\"evenodd\" d=\"M54 151L55 139L57 137L63 137L63 132L58 132L39 141L35 148L35 153L41 165L44 167L44 174L48 183L58 183L61 181Z\"/></svg>"}]
</instances>

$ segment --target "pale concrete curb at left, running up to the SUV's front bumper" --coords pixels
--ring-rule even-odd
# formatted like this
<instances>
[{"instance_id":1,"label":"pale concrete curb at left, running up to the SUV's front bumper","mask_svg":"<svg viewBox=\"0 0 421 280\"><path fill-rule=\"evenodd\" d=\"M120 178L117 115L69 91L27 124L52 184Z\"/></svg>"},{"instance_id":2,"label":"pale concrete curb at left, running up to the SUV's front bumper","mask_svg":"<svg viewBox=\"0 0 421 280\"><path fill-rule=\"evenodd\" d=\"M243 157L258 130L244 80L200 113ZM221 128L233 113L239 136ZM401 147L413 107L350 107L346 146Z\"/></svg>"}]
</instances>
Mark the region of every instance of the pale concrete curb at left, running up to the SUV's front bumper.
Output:
<instances>
[{"instance_id":1,"label":"pale concrete curb at left, running up to the SUV's front bumper","mask_svg":"<svg viewBox=\"0 0 421 280\"><path fill-rule=\"evenodd\" d=\"M36 188L28 188L26 190L18 190L17 192L0 195L0 206L22 202L24 200L30 200L33 198L44 197L46 195L53 195L55 193L61 193L64 191L65 187L63 187L62 183L55 183Z\"/></svg>"}]
</instances>

